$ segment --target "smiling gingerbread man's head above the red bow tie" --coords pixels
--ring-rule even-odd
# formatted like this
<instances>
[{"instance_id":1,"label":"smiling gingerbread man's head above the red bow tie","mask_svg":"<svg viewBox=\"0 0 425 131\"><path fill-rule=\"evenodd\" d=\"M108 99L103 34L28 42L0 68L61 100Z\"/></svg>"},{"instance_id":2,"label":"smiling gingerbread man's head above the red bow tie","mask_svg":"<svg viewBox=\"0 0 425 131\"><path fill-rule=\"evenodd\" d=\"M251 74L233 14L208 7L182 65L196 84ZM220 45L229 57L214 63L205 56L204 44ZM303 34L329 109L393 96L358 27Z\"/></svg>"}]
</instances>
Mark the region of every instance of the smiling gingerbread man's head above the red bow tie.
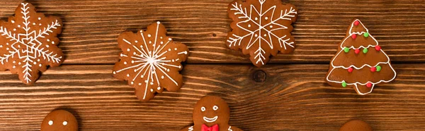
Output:
<instances>
[{"instance_id":1,"label":"smiling gingerbread man's head above the red bow tie","mask_svg":"<svg viewBox=\"0 0 425 131\"><path fill-rule=\"evenodd\" d=\"M193 123L195 125L227 125L230 109L226 101L217 96L204 96L193 108Z\"/></svg>"}]
</instances>

